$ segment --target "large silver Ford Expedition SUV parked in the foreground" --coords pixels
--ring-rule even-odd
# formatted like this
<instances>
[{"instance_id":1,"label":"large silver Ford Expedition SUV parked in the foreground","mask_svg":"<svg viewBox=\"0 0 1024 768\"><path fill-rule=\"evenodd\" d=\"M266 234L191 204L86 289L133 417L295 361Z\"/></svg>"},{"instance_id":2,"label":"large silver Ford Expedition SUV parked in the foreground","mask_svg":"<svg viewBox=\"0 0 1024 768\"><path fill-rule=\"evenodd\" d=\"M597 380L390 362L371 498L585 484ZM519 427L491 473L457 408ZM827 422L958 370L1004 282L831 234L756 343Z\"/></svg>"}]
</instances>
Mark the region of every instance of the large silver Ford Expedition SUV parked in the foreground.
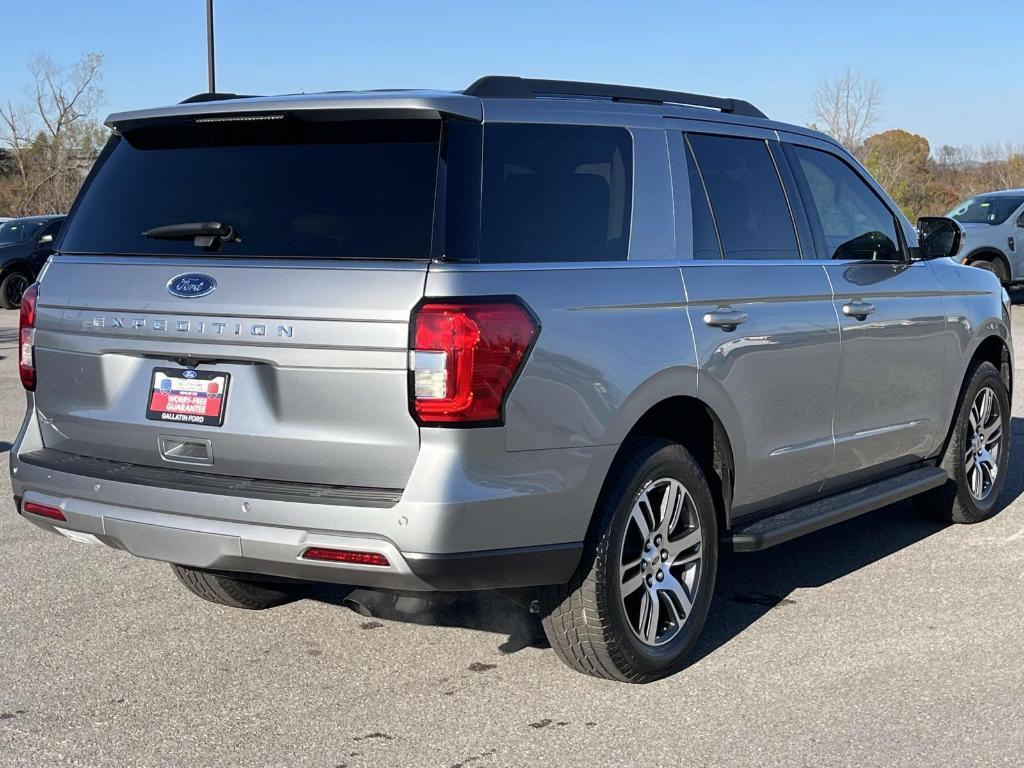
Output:
<instances>
[{"instance_id":1,"label":"large silver Ford Expedition SUV parked in the foreground","mask_svg":"<svg viewBox=\"0 0 1024 768\"><path fill-rule=\"evenodd\" d=\"M498 590L641 682L722 548L997 509L1007 296L822 134L505 77L109 125L22 307L15 503L200 597Z\"/></svg>"}]
</instances>

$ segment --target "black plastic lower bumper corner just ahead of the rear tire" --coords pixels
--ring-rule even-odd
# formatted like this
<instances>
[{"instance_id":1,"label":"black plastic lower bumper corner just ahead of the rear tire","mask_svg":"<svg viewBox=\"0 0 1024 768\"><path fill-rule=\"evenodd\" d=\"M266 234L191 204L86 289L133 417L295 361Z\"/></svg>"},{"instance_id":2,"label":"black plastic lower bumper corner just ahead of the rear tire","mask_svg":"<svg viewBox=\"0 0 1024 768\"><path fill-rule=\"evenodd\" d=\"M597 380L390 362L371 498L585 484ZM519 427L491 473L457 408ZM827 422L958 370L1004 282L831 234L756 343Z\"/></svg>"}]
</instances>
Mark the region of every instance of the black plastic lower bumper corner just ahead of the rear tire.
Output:
<instances>
[{"instance_id":1,"label":"black plastic lower bumper corner just ahead of the rear tire","mask_svg":"<svg viewBox=\"0 0 1024 768\"><path fill-rule=\"evenodd\" d=\"M565 584L582 555L583 542L442 555L402 552L410 570L446 592Z\"/></svg>"}]
</instances>

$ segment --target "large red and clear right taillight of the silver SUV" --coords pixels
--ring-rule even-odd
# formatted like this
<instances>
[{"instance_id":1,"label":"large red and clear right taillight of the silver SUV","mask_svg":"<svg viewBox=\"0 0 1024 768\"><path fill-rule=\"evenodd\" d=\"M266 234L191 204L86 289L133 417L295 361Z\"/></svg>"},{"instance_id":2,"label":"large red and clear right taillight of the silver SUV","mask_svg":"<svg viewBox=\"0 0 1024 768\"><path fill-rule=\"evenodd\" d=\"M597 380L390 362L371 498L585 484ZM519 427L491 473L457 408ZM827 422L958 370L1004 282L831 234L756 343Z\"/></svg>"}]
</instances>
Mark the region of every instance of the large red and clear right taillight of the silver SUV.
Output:
<instances>
[{"instance_id":1,"label":"large red and clear right taillight of the silver SUV","mask_svg":"<svg viewBox=\"0 0 1024 768\"><path fill-rule=\"evenodd\" d=\"M413 313L412 399L421 424L501 424L540 327L517 301L430 302Z\"/></svg>"}]
</instances>

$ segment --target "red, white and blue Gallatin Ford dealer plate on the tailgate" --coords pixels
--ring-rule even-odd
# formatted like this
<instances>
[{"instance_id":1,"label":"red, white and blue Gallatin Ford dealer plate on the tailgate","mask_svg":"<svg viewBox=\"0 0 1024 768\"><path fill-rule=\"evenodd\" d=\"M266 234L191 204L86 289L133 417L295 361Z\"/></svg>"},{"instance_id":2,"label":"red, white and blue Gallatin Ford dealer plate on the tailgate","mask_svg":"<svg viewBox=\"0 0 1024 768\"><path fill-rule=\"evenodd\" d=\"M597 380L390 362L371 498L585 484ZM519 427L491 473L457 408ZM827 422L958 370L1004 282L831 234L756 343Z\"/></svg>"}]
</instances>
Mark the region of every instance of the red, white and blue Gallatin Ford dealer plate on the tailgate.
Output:
<instances>
[{"instance_id":1,"label":"red, white and blue Gallatin Ford dealer plate on the tailgate","mask_svg":"<svg viewBox=\"0 0 1024 768\"><path fill-rule=\"evenodd\" d=\"M219 427L224 423L229 378L228 374L218 371L154 369L145 418Z\"/></svg>"}]
</instances>

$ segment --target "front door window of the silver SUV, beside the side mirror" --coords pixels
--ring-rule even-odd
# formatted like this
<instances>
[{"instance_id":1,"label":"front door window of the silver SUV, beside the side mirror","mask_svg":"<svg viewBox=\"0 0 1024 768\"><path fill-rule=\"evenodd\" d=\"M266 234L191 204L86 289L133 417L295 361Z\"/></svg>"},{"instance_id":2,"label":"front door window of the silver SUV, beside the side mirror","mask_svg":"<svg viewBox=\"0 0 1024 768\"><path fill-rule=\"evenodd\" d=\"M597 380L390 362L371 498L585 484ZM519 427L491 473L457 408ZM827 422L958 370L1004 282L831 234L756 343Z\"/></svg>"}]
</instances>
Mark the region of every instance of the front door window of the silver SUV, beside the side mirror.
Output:
<instances>
[{"instance_id":1,"label":"front door window of the silver SUV, beside the side mirror","mask_svg":"<svg viewBox=\"0 0 1024 768\"><path fill-rule=\"evenodd\" d=\"M825 258L892 261L902 258L892 212L850 166L834 155L794 146L808 215L817 219Z\"/></svg>"}]
</instances>

